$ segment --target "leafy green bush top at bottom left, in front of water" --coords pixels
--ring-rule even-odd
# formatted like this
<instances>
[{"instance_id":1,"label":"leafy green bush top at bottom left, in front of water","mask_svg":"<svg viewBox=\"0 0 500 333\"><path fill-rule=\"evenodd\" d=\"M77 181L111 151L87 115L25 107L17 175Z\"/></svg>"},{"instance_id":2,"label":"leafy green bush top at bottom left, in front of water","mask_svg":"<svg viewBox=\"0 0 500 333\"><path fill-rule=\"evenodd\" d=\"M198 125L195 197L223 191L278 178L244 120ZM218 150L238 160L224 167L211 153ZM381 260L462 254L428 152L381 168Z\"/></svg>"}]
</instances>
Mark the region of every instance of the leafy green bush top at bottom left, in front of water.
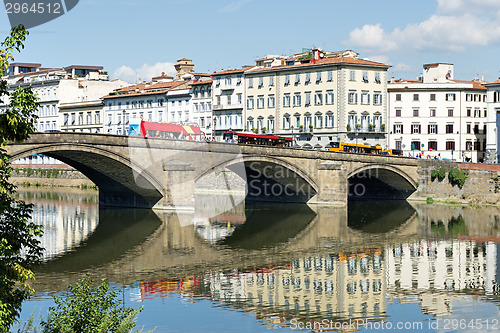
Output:
<instances>
[{"instance_id":1,"label":"leafy green bush top at bottom left, in front of water","mask_svg":"<svg viewBox=\"0 0 500 333\"><path fill-rule=\"evenodd\" d=\"M49 308L47 321L42 321L43 332L131 332L142 308L123 307L118 294L105 279L98 286L89 276L81 279L69 286L65 299L54 296L56 306Z\"/></svg>"}]
</instances>

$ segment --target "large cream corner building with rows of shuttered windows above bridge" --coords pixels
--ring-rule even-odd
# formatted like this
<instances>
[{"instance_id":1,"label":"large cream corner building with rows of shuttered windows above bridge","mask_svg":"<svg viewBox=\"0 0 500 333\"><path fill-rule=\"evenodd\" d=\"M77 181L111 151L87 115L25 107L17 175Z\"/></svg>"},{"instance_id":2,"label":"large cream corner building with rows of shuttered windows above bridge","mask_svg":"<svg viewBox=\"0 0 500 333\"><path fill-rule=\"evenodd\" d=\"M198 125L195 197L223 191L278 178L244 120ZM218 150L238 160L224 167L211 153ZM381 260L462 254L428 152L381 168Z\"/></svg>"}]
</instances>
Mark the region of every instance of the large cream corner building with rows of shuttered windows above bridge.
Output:
<instances>
[{"instance_id":1,"label":"large cream corner building with rows of shuttered windows above bridge","mask_svg":"<svg viewBox=\"0 0 500 333\"><path fill-rule=\"evenodd\" d=\"M387 145L388 65L353 51L270 57L245 71L248 130L291 136L307 148L332 141Z\"/></svg>"}]
</instances>

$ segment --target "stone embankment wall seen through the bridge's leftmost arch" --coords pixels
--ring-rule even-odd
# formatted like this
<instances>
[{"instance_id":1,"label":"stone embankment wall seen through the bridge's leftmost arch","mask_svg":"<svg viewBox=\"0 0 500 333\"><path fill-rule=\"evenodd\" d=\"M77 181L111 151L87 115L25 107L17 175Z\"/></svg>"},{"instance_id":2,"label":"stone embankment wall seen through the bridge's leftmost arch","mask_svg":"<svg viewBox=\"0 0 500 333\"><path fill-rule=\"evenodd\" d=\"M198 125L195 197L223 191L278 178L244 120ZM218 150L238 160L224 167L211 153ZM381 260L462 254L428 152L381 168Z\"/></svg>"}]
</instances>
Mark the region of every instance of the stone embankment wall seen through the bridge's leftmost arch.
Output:
<instances>
[{"instance_id":1,"label":"stone embankment wall seen through the bridge's leftmost arch","mask_svg":"<svg viewBox=\"0 0 500 333\"><path fill-rule=\"evenodd\" d=\"M73 169L14 168L11 181L17 186L50 186L91 188L94 183Z\"/></svg>"}]
</instances>

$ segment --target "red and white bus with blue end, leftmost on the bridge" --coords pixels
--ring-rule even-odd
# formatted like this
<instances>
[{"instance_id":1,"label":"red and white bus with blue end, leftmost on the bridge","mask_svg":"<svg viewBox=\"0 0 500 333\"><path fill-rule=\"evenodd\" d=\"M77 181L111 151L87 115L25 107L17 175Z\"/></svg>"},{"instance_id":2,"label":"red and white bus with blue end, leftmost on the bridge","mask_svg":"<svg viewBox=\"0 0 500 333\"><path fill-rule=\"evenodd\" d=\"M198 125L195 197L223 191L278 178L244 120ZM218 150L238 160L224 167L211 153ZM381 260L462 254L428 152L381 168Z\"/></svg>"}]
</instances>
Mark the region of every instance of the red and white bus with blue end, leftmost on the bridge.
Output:
<instances>
[{"instance_id":1,"label":"red and white bus with blue end, leftmost on the bridge","mask_svg":"<svg viewBox=\"0 0 500 333\"><path fill-rule=\"evenodd\" d=\"M205 134L198 126L188 126L168 123L155 123L142 119L131 119L128 126L129 136L147 138L163 138L177 140L202 141Z\"/></svg>"}]
</instances>

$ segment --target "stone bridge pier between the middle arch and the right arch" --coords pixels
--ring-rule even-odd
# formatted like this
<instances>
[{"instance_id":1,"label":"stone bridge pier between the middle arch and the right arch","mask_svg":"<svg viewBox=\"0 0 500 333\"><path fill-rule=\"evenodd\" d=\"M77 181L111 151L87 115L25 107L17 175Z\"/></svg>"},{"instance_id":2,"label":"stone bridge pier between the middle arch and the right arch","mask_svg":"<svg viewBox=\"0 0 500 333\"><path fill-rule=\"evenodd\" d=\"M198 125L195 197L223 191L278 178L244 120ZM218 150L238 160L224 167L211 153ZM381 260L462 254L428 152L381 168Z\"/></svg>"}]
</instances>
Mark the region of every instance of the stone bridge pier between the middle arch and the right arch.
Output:
<instances>
[{"instance_id":1,"label":"stone bridge pier between the middle arch and the right arch","mask_svg":"<svg viewBox=\"0 0 500 333\"><path fill-rule=\"evenodd\" d=\"M311 204L346 206L349 186L346 167L335 161L318 165L318 193L309 200Z\"/></svg>"}]
</instances>

